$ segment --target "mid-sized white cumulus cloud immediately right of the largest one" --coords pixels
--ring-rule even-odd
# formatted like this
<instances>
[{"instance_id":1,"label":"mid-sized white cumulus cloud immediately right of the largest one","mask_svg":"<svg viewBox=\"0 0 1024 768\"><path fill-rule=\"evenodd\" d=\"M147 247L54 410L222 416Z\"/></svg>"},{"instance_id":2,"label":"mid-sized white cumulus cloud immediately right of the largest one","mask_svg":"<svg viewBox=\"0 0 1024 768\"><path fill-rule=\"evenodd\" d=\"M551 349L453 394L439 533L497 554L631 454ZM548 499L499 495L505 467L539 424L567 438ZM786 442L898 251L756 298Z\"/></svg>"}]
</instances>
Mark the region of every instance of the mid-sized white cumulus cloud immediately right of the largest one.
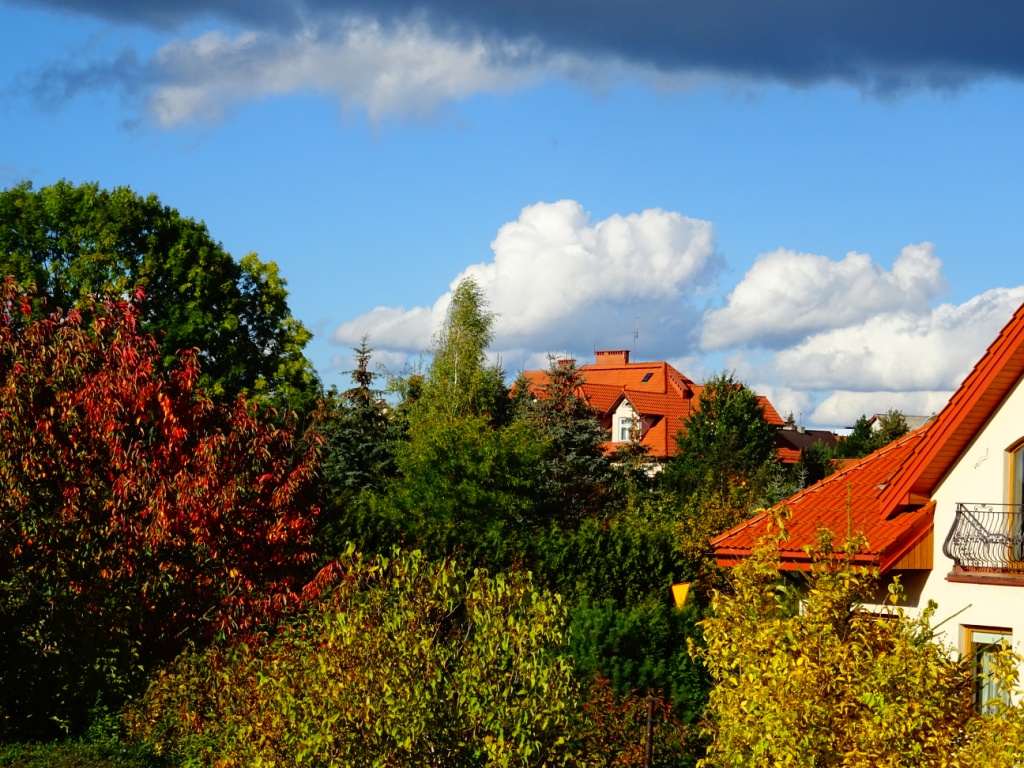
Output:
<instances>
[{"instance_id":1,"label":"mid-sized white cumulus cloud immediately right of the largest one","mask_svg":"<svg viewBox=\"0 0 1024 768\"><path fill-rule=\"evenodd\" d=\"M701 343L780 348L880 312L927 310L946 288L934 250L931 243L907 246L891 271L860 253L841 261L790 250L763 255L726 305L708 313Z\"/></svg>"}]
</instances>

